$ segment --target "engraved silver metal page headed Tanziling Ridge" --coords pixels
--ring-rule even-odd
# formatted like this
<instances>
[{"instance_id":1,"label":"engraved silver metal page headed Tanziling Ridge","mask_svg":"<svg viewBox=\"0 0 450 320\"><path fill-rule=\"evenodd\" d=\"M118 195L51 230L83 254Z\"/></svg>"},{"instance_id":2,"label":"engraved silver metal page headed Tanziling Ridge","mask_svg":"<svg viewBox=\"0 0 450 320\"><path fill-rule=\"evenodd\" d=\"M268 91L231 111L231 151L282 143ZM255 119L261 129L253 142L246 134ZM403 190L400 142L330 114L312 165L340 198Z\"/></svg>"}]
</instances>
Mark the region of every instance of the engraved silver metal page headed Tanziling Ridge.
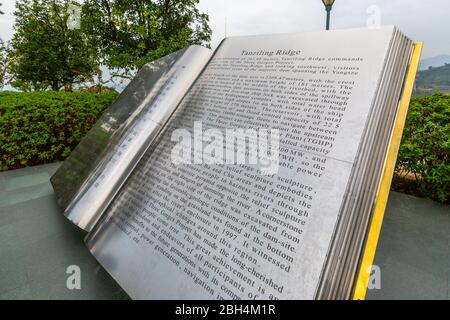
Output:
<instances>
[{"instance_id":1,"label":"engraved silver metal page headed Tanziling Ridge","mask_svg":"<svg viewBox=\"0 0 450 320\"><path fill-rule=\"evenodd\" d=\"M132 298L314 298L393 31L226 39L88 235L93 255ZM267 167L211 147L239 128L279 130ZM180 129L192 164L173 161Z\"/></svg>"}]
</instances>

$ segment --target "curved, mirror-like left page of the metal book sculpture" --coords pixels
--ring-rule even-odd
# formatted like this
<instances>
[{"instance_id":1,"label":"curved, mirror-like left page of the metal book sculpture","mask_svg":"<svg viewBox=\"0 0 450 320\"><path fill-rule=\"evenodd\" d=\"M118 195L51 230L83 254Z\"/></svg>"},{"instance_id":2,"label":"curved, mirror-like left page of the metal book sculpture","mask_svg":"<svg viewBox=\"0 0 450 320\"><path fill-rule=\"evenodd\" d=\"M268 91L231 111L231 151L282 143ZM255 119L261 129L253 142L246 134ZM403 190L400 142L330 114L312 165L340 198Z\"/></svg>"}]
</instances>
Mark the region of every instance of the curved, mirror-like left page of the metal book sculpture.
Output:
<instances>
[{"instance_id":1,"label":"curved, mirror-like left page of the metal book sculpture","mask_svg":"<svg viewBox=\"0 0 450 320\"><path fill-rule=\"evenodd\" d=\"M52 177L69 220L92 228L211 55L191 46L139 71Z\"/></svg>"}]
</instances>

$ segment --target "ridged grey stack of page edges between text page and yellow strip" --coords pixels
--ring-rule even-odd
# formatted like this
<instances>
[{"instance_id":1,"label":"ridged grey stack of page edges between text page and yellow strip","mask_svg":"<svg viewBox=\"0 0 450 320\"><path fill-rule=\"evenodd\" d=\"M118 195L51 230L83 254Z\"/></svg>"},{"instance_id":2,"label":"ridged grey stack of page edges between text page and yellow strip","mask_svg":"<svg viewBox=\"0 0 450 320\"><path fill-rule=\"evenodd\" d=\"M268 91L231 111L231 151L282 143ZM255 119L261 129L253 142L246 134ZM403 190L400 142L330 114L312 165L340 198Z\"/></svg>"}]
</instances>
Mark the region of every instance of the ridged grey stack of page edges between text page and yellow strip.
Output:
<instances>
[{"instance_id":1,"label":"ridged grey stack of page edges between text page and yellow strip","mask_svg":"<svg viewBox=\"0 0 450 320\"><path fill-rule=\"evenodd\" d=\"M328 252L319 293L324 299L351 297L354 289L412 52L412 41L398 29L393 40L341 208L344 214Z\"/></svg>"}]
</instances>

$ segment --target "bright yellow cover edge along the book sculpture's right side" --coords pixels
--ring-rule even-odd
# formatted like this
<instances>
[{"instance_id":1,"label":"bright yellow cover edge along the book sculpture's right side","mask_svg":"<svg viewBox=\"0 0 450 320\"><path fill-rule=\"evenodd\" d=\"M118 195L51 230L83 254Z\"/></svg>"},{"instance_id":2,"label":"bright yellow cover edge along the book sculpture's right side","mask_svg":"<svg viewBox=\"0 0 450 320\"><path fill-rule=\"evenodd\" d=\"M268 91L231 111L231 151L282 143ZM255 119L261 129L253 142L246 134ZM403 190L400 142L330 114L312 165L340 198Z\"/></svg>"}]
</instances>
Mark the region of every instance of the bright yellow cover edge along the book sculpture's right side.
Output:
<instances>
[{"instance_id":1,"label":"bright yellow cover edge along the book sculpture's right side","mask_svg":"<svg viewBox=\"0 0 450 320\"><path fill-rule=\"evenodd\" d=\"M369 234L361 260L358 278L356 280L353 300L364 300L366 297L367 286L369 283L375 251L377 249L378 238L380 236L381 225L383 223L384 211L391 189L392 176L397 161L398 149L403 135L406 115L411 100L417 69L419 67L420 55L422 53L423 42L414 43L411 61L403 87L402 97L399 102L398 111L395 119L394 129L391 135L389 150L386 155L383 176L381 178L380 190L375 203Z\"/></svg>"}]
</instances>

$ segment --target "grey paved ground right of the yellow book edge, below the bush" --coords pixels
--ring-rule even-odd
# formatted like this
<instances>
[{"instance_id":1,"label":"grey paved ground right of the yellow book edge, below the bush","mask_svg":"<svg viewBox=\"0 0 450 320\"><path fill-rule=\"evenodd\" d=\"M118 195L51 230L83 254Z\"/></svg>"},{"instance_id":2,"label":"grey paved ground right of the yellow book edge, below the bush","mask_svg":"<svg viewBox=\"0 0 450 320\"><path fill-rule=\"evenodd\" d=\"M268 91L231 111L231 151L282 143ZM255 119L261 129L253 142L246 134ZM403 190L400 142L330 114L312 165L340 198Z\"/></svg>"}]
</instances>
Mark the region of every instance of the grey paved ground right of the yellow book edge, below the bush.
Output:
<instances>
[{"instance_id":1,"label":"grey paved ground right of the yellow book edge, below the bush","mask_svg":"<svg viewBox=\"0 0 450 320\"><path fill-rule=\"evenodd\" d=\"M450 206L391 192L367 299L450 299Z\"/></svg>"}]
</instances>

